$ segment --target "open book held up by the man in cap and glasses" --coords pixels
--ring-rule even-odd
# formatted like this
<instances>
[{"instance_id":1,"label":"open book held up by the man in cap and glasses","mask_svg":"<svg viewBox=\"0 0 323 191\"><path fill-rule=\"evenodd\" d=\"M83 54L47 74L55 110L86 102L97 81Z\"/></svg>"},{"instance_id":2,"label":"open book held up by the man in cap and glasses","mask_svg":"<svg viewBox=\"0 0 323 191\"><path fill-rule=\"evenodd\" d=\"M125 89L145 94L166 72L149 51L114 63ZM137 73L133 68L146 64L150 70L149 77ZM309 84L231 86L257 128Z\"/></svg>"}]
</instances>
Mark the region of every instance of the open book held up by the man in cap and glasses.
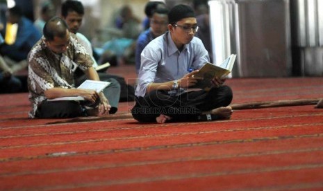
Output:
<instances>
[{"instance_id":1,"label":"open book held up by the man in cap and glasses","mask_svg":"<svg viewBox=\"0 0 323 191\"><path fill-rule=\"evenodd\" d=\"M220 64L220 66L216 66L211 63L204 64L204 66L199 69L199 73L194 74L194 78L198 80L194 88L205 89L208 91L213 87L213 83L211 81L215 76L218 78L226 78L226 76L232 71L236 56L237 55L234 54L230 55L226 60L224 60L224 62L222 62L222 64Z\"/></svg>"}]
</instances>

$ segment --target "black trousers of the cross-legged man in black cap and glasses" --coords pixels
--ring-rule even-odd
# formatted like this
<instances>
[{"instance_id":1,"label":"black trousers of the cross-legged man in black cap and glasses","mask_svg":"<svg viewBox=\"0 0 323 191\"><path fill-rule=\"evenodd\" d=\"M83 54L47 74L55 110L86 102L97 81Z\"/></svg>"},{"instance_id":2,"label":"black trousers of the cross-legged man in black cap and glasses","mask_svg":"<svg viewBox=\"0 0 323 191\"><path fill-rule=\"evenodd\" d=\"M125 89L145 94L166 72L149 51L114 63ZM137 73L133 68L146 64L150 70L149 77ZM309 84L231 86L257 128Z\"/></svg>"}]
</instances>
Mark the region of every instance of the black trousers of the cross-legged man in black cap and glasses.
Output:
<instances>
[{"instance_id":1,"label":"black trousers of the cross-legged man in black cap and glasses","mask_svg":"<svg viewBox=\"0 0 323 191\"><path fill-rule=\"evenodd\" d=\"M228 106L232 98L232 90L228 86L210 91L190 91L179 96L157 90L144 97L136 97L131 113L139 122L156 122L160 114L172 117L172 121L194 121L203 111Z\"/></svg>"}]
</instances>

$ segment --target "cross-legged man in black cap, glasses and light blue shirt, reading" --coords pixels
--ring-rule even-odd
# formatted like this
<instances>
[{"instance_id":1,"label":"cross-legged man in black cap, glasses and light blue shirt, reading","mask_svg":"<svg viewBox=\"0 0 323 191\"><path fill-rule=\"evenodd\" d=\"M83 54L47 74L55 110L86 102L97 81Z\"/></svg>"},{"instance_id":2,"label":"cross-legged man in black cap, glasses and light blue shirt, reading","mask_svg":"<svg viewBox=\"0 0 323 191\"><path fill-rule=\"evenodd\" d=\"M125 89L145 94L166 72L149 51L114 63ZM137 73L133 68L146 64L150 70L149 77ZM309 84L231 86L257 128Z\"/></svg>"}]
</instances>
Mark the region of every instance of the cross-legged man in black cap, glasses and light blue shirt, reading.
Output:
<instances>
[{"instance_id":1,"label":"cross-legged man in black cap, glasses and light blue shirt, reading","mask_svg":"<svg viewBox=\"0 0 323 191\"><path fill-rule=\"evenodd\" d=\"M169 31L142 51L133 118L159 123L230 118L232 91L223 85L224 79L213 78L210 91L185 91L197 83L193 75L209 62L208 51L194 37L198 30L194 10L174 6L168 19Z\"/></svg>"}]
</instances>

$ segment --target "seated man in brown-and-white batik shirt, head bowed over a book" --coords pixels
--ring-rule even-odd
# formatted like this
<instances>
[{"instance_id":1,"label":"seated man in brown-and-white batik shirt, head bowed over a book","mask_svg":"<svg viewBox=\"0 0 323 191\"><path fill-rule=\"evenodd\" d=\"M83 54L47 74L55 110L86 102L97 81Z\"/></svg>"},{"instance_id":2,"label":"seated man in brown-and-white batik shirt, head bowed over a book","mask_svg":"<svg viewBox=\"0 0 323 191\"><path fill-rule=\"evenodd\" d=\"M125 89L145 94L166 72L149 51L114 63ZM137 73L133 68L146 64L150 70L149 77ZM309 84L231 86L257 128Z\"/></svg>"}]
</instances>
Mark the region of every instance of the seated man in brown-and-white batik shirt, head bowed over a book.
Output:
<instances>
[{"instance_id":1,"label":"seated man in brown-and-white batik shirt, head bowed over a book","mask_svg":"<svg viewBox=\"0 0 323 191\"><path fill-rule=\"evenodd\" d=\"M73 118L99 116L117 112L120 87L117 81L97 93L89 89L76 89L74 69L82 69L90 80L99 75L92 67L93 60L73 33L69 33L66 22L53 17L44 26L44 37L33 46L28 54L28 89L32 109L30 118ZM90 102L84 107L81 102L48 99L65 96L81 96ZM97 107L98 106L98 107Z\"/></svg>"}]
</instances>

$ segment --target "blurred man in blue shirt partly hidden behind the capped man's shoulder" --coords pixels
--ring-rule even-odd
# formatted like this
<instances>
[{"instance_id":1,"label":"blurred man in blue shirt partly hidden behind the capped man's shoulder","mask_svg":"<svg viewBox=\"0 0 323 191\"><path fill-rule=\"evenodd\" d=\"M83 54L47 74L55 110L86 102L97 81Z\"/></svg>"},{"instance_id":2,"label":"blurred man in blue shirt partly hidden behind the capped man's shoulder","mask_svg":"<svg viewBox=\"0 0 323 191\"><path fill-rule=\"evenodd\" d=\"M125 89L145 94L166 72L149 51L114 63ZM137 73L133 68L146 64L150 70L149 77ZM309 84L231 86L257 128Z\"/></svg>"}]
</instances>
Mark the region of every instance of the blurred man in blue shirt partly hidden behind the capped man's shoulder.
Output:
<instances>
[{"instance_id":1,"label":"blurred man in blue shirt partly hidden behind the capped man's shoulder","mask_svg":"<svg viewBox=\"0 0 323 191\"><path fill-rule=\"evenodd\" d=\"M150 17L150 28L140 34L135 48L135 71L137 75L140 69L140 54L145 46L156 37L163 35L167 31L168 24L167 8L157 8Z\"/></svg>"}]
</instances>

